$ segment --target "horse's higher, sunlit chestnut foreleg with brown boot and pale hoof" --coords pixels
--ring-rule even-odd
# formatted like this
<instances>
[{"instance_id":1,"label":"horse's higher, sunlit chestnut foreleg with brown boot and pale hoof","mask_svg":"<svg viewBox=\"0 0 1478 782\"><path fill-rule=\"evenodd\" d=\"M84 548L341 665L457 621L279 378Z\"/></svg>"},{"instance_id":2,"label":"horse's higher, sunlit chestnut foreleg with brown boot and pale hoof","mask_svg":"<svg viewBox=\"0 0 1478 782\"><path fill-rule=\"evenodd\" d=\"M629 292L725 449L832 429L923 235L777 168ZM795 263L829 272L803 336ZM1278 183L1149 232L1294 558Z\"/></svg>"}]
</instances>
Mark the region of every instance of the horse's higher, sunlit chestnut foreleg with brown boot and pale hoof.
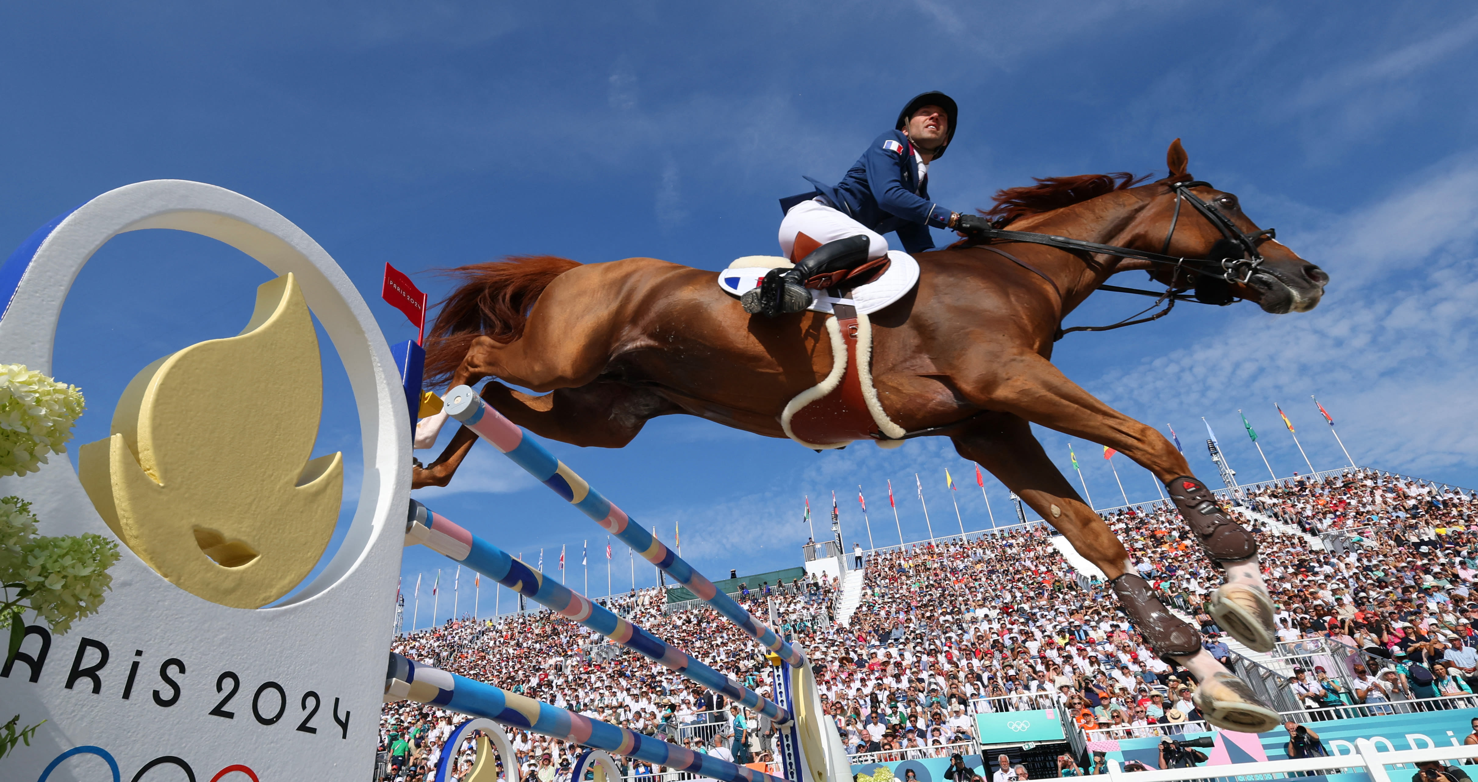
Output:
<instances>
[{"instance_id":1,"label":"horse's higher, sunlit chestnut foreleg with brown boot and pale hoof","mask_svg":"<svg viewBox=\"0 0 1478 782\"><path fill-rule=\"evenodd\" d=\"M1225 584L1208 600L1208 612L1249 647L1273 649L1273 600L1258 566L1256 540L1191 476L1185 457L1159 430L1100 402L1035 353L993 367L993 373L999 374L981 377L1008 380L983 392L962 386L973 404L1107 445L1163 480L1206 556L1225 569Z\"/></svg>"}]
</instances>

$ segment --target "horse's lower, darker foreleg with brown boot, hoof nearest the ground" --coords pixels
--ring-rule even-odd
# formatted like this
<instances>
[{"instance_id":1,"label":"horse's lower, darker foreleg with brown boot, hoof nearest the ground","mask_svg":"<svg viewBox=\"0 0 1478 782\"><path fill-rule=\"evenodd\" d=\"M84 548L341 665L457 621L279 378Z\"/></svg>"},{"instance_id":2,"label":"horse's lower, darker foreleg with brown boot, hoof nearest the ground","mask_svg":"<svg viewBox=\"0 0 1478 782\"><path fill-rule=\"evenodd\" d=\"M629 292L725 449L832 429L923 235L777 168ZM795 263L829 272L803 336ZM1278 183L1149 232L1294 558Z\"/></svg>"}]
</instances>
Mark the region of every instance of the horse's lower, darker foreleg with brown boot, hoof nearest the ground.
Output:
<instances>
[{"instance_id":1,"label":"horse's lower, darker foreleg with brown boot, hoof nearest the ground","mask_svg":"<svg viewBox=\"0 0 1478 782\"><path fill-rule=\"evenodd\" d=\"M1148 582L1132 571L1123 544L1079 500L1023 418L983 415L953 441L962 457L990 470L1104 572L1119 605L1150 647L1162 658L1184 665L1200 681L1196 705L1212 724L1249 733L1278 724L1278 714L1212 658L1200 645L1200 633L1171 613Z\"/></svg>"}]
</instances>

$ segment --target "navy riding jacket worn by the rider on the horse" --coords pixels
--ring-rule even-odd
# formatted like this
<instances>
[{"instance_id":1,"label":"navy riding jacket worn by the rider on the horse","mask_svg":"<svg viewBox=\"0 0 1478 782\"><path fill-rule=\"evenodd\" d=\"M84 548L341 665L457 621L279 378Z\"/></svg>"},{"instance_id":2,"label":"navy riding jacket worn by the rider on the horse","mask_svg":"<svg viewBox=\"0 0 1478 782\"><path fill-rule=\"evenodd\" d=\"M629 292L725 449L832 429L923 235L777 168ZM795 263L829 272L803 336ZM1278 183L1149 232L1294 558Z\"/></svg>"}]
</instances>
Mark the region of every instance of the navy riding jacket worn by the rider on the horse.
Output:
<instances>
[{"instance_id":1,"label":"navy riding jacket worn by the rider on the horse","mask_svg":"<svg viewBox=\"0 0 1478 782\"><path fill-rule=\"evenodd\" d=\"M950 210L930 201L928 174L918 177L913 145L902 130L878 136L837 185L808 176L806 180L853 220L878 234L897 231L909 253L934 247L928 226L949 228ZM794 203L786 198L782 205L789 208Z\"/></svg>"}]
</instances>

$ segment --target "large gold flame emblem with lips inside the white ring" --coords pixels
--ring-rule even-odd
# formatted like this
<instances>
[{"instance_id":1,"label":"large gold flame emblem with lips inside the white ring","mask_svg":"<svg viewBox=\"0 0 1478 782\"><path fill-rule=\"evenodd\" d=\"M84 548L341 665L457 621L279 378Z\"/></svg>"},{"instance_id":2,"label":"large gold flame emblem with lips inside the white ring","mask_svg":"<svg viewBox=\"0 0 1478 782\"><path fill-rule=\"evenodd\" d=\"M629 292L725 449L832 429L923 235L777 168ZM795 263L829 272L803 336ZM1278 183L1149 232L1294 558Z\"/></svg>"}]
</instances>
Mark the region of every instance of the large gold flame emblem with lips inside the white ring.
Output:
<instances>
[{"instance_id":1,"label":"large gold flame emblem with lips inside the white ring","mask_svg":"<svg viewBox=\"0 0 1478 782\"><path fill-rule=\"evenodd\" d=\"M145 367L112 436L78 449L108 526L180 588L232 608L287 594L328 547L341 454L309 458L324 381L293 275L257 288L251 321Z\"/></svg>"}]
</instances>

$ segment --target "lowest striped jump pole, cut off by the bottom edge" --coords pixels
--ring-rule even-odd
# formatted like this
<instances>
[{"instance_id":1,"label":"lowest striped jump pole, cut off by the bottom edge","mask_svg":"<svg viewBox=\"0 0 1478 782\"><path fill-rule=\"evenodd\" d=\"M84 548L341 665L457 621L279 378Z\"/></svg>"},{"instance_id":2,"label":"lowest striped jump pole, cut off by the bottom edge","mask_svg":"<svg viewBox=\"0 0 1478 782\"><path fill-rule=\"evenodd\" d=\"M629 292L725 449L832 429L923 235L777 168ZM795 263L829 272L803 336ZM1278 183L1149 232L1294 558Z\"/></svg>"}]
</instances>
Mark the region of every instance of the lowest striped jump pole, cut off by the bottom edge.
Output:
<instances>
[{"instance_id":1,"label":"lowest striped jump pole, cut off by the bottom edge","mask_svg":"<svg viewBox=\"0 0 1478 782\"><path fill-rule=\"evenodd\" d=\"M541 701L474 681L464 676L421 665L395 652L384 679L384 702L415 701L442 708L486 717L495 723L522 727L582 747L634 757L668 769L693 772L701 778L723 782L785 782L745 766L736 766L686 747L633 733L625 727L591 720L582 714L551 707Z\"/></svg>"}]
</instances>

